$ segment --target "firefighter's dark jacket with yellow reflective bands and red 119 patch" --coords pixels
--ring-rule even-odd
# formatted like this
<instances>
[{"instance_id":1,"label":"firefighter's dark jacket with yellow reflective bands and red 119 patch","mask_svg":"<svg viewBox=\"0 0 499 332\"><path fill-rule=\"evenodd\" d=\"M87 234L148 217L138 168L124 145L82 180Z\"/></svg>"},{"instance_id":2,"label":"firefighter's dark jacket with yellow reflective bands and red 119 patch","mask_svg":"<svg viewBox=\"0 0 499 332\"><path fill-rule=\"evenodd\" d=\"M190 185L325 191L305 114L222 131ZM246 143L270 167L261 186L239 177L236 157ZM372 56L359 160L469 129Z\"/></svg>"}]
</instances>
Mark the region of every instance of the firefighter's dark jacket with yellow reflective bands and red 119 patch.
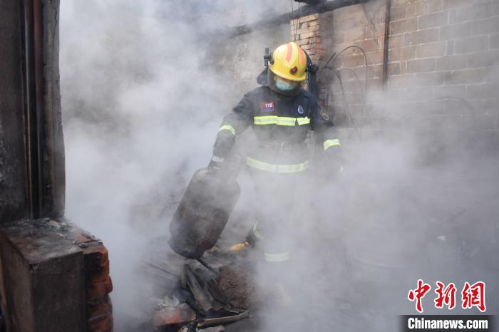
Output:
<instances>
[{"instance_id":1,"label":"firefighter's dark jacket with yellow reflective bands and red 119 patch","mask_svg":"<svg viewBox=\"0 0 499 332\"><path fill-rule=\"evenodd\" d=\"M304 170L302 163L308 164L309 147L307 134L313 130L314 139L320 150L339 161L340 142L334 125L327 115L320 112L319 104L307 90L298 95L287 96L274 92L267 86L259 86L249 91L244 98L226 115L220 125L213 155L225 158L232 150L237 135L249 126L258 139L258 145L249 152L249 166L271 172L281 172L269 165L297 165ZM259 164L258 164L259 162ZM263 164L262 164L263 163ZM337 162L336 162L337 163ZM262 165L264 166L262 168ZM294 172L282 168L283 172Z\"/></svg>"}]
</instances>

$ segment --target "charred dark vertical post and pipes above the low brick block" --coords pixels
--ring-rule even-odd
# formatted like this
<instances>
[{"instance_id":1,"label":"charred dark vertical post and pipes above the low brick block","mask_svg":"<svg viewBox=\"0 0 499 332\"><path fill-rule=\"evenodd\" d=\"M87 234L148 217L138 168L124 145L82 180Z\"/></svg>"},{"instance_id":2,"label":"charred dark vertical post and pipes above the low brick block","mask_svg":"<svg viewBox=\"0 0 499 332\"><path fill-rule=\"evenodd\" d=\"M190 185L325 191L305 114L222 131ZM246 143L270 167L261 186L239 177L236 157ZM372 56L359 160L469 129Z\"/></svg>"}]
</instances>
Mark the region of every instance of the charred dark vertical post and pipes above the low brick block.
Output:
<instances>
[{"instance_id":1,"label":"charred dark vertical post and pipes above the low brick block","mask_svg":"<svg viewBox=\"0 0 499 332\"><path fill-rule=\"evenodd\" d=\"M55 19L53 9L56 9ZM63 215L64 152L59 113L57 9L58 0L21 1L24 144L31 218Z\"/></svg>"}]
</instances>

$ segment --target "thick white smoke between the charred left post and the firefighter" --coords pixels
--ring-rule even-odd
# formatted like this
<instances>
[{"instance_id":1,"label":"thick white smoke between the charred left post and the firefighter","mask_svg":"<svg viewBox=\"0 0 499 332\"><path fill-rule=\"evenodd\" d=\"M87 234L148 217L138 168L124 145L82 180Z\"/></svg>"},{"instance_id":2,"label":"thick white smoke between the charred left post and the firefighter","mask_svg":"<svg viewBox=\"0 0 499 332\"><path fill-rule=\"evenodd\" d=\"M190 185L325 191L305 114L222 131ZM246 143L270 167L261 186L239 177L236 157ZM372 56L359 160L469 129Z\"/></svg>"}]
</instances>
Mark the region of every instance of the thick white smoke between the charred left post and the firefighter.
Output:
<instances>
[{"instance_id":1,"label":"thick white smoke between the charred left post and the firefighter","mask_svg":"<svg viewBox=\"0 0 499 332\"><path fill-rule=\"evenodd\" d=\"M236 101L201 33L271 12L235 2L61 1L66 215L109 249L117 331L138 261L168 232L162 209L207 165Z\"/></svg>"}]
</instances>

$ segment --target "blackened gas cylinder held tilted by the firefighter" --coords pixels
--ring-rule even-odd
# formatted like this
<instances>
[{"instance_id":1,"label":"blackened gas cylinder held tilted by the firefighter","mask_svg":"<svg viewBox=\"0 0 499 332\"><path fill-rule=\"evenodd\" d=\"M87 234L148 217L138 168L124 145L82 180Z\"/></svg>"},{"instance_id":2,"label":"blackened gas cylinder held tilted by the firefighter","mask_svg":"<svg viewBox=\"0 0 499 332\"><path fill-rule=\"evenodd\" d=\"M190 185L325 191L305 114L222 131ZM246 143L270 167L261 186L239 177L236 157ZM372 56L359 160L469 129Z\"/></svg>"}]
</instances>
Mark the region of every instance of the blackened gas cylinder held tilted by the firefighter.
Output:
<instances>
[{"instance_id":1,"label":"blackened gas cylinder held tilted by the firefighter","mask_svg":"<svg viewBox=\"0 0 499 332\"><path fill-rule=\"evenodd\" d=\"M198 259L215 245L240 196L237 172L205 167L194 173L170 222L174 251Z\"/></svg>"}]
</instances>

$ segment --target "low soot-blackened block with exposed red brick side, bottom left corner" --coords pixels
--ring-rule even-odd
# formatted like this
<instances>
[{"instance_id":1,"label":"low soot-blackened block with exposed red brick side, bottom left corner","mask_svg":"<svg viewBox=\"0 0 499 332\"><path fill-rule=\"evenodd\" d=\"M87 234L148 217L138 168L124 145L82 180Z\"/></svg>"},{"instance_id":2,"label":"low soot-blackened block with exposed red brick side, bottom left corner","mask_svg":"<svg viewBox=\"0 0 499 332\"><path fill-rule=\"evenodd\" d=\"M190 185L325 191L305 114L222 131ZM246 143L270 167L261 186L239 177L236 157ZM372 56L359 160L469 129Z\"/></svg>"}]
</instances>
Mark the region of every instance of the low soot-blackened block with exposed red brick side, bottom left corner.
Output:
<instances>
[{"instance_id":1,"label":"low soot-blackened block with exposed red brick side, bottom left corner","mask_svg":"<svg viewBox=\"0 0 499 332\"><path fill-rule=\"evenodd\" d=\"M108 250L66 219L0 225L0 299L8 331L111 332Z\"/></svg>"}]
</instances>

